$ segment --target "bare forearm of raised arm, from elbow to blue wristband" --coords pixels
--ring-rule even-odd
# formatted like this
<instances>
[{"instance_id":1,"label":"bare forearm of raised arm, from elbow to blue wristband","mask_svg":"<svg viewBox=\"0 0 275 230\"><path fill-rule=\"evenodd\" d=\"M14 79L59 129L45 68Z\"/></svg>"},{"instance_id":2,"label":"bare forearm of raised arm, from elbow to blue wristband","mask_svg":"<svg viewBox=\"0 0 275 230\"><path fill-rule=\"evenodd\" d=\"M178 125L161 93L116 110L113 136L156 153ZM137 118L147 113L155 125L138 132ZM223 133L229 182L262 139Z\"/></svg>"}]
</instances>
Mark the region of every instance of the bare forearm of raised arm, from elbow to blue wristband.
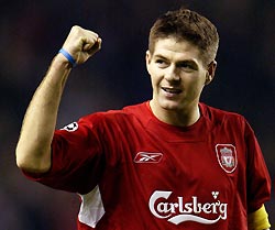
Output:
<instances>
[{"instance_id":1,"label":"bare forearm of raised arm, from elbow to blue wristband","mask_svg":"<svg viewBox=\"0 0 275 230\"><path fill-rule=\"evenodd\" d=\"M42 173L51 167L51 143L69 72L68 62L58 54L29 105L16 146L16 164L25 171Z\"/></svg>"}]
</instances>

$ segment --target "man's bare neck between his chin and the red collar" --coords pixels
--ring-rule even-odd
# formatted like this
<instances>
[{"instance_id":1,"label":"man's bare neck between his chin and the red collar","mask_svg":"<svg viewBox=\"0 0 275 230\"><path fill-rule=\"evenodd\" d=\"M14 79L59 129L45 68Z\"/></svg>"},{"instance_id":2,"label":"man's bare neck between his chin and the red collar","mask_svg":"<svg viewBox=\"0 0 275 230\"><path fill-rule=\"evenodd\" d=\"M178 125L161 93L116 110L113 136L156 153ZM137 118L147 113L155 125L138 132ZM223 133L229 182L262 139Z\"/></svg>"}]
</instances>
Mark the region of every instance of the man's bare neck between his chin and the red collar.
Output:
<instances>
[{"instance_id":1,"label":"man's bare neck between his chin and the red collar","mask_svg":"<svg viewBox=\"0 0 275 230\"><path fill-rule=\"evenodd\" d=\"M157 108L153 101L150 101L150 107L154 116L164 123L175 127L189 127L196 123L200 118L199 106L190 106L180 110L169 110Z\"/></svg>"}]
</instances>

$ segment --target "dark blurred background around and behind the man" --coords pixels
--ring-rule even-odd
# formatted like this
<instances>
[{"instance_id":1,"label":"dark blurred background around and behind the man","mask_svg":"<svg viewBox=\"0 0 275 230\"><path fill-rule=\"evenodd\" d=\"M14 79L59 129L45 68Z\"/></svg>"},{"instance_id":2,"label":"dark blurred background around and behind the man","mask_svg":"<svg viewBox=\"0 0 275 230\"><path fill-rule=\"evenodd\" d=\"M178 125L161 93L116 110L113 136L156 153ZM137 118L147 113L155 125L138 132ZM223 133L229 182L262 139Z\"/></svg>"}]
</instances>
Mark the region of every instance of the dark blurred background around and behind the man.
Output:
<instances>
[{"instance_id":1,"label":"dark blurred background around and behind the man","mask_svg":"<svg viewBox=\"0 0 275 230\"><path fill-rule=\"evenodd\" d=\"M1 0L1 229L76 229L78 196L29 182L14 161L28 103L72 25L96 31L103 43L92 59L72 73L58 128L94 111L119 109L151 98L144 63L148 30L156 17L179 6L209 18L220 33L216 79L201 100L245 116L274 180L274 0ZM274 204L273 193L266 207L275 224Z\"/></svg>"}]
</instances>

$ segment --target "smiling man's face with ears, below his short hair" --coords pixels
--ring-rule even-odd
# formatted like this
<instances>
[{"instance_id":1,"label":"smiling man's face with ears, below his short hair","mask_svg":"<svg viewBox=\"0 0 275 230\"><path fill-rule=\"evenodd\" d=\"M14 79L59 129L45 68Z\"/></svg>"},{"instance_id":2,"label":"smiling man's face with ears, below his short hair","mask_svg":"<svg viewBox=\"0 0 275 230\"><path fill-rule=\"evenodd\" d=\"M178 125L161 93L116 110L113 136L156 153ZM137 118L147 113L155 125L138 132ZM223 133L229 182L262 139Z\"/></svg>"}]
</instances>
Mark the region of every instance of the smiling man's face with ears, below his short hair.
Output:
<instances>
[{"instance_id":1,"label":"smiling man's face with ears, below his short hair","mask_svg":"<svg viewBox=\"0 0 275 230\"><path fill-rule=\"evenodd\" d=\"M199 50L186 41L163 39L154 53L146 52L155 114L188 113L198 109L200 94L213 77L216 64L205 66Z\"/></svg>"}]
</instances>

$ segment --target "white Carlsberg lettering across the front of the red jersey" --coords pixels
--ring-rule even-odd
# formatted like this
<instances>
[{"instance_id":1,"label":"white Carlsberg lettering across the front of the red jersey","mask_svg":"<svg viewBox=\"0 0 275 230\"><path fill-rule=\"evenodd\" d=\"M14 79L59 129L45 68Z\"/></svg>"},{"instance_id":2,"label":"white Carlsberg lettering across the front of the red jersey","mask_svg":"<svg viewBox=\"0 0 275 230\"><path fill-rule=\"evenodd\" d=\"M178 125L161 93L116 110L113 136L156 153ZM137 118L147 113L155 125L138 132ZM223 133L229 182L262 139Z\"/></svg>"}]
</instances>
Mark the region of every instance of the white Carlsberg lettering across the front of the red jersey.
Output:
<instances>
[{"instance_id":1,"label":"white Carlsberg lettering across the front of the red jersey","mask_svg":"<svg viewBox=\"0 0 275 230\"><path fill-rule=\"evenodd\" d=\"M179 224L185 221L195 221L204 224L212 224L220 219L226 220L228 217L228 204L218 199L219 191L212 191L212 202L200 202L197 196L191 200L184 202L184 197L177 197L176 201L167 201L172 191L156 190L148 200L151 212L160 219ZM204 218L200 217L204 215ZM215 219L206 218L206 215L215 215Z\"/></svg>"}]
</instances>

